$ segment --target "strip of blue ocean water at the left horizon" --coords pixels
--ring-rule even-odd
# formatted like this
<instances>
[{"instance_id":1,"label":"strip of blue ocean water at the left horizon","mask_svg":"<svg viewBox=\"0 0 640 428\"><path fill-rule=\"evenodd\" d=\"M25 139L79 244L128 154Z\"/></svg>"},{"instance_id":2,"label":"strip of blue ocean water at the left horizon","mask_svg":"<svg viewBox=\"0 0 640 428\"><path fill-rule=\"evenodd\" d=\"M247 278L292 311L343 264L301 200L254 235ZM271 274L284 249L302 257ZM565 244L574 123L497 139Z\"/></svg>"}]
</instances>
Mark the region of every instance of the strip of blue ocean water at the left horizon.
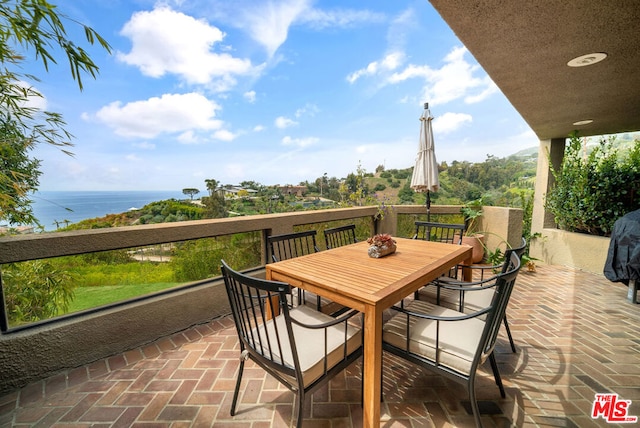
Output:
<instances>
[{"instance_id":1,"label":"strip of blue ocean water at the left horizon","mask_svg":"<svg viewBox=\"0 0 640 428\"><path fill-rule=\"evenodd\" d=\"M77 223L81 220L119 214L132 208L165 199L185 199L181 190L175 191L41 191L31 200L36 218L45 230L56 230L65 220Z\"/></svg>"}]
</instances>

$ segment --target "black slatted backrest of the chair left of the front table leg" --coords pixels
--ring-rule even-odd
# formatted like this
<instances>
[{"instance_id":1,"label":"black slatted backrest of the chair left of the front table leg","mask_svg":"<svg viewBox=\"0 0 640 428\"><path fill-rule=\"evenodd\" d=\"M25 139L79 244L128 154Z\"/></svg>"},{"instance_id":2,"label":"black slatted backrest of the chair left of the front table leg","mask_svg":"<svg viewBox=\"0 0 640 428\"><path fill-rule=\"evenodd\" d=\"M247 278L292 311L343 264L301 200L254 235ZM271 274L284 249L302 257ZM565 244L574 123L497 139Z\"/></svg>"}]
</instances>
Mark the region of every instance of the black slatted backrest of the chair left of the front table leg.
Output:
<instances>
[{"instance_id":1,"label":"black slatted backrest of the chair left of the front table leg","mask_svg":"<svg viewBox=\"0 0 640 428\"><path fill-rule=\"evenodd\" d=\"M291 286L236 272L224 260L221 270L241 351L249 352L274 370L295 377L295 369L287 367L282 359L291 351L297 358L289 307L284 303L291 293ZM284 315L287 320L284 328L281 323L270 323L269 328L263 327L274 314Z\"/></svg>"}]
</instances>

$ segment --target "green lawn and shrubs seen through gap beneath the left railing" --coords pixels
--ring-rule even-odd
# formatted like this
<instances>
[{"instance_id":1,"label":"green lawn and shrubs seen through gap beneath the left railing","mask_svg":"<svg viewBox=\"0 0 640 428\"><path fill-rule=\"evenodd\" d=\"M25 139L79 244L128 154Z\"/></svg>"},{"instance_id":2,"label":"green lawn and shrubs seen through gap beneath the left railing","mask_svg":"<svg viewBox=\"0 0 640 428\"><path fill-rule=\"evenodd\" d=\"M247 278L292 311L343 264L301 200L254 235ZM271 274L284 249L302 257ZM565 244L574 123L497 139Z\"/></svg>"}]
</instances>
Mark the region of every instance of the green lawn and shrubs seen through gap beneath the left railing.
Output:
<instances>
[{"instance_id":1,"label":"green lawn and shrubs seen through gap beneath the left railing","mask_svg":"<svg viewBox=\"0 0 640 428\"><path fill-rule=\"evenodd\" d=\"M260 233L242 233L6 264L3 292L11 326L53 318L218 276L224 258L259 266Z\"/></svg>"}]
</instances>

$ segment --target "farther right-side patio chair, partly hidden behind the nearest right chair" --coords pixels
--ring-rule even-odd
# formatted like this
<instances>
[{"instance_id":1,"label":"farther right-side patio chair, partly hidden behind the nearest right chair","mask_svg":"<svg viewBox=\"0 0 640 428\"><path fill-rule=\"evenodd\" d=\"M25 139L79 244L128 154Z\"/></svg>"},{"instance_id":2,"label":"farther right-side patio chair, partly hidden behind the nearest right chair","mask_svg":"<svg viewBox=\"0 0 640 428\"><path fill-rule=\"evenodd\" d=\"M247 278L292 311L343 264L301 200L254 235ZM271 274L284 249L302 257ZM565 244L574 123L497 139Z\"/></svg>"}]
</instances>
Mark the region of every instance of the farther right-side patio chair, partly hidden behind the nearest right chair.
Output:
<instances>
[{"instance_id":1,"label":"farther right-side patio chair, partly hidden behind the nearest right chair","mask_svg":"<svg viewBox=\"0 0 640 428\"><path fill-rule=\"evenodd\" d=\"M497 272L505 273L512 268L511 255L515 254L518 260L522 258L527 247L527 240L522 238L522 241L518 247L508 248L504 253L504 261L499 265L484 266L473 265L466 266L461 265L459 271L463 269L471 269L476 273L473 277L476 281L465 282L457 281L449 277L440 277L434 281L431 287L424 287L419 291L419 299L434 302L437 305L445 306L450 309L455 309L460 312L470 313L479 311L486 307L490 302L493 295L493 290L485 289L477 293L472 293L466 296L464 292L468 287L482 287L484 284L492 281ZM486 276L486 278L485 278ZM516 345L511 336L511 329L509 328L509 322L507 321L507 313L505 311L503 318L504 328L509 338L509 344L511 345L511 351L516 352Z\"/></svg>"}]
</instances>

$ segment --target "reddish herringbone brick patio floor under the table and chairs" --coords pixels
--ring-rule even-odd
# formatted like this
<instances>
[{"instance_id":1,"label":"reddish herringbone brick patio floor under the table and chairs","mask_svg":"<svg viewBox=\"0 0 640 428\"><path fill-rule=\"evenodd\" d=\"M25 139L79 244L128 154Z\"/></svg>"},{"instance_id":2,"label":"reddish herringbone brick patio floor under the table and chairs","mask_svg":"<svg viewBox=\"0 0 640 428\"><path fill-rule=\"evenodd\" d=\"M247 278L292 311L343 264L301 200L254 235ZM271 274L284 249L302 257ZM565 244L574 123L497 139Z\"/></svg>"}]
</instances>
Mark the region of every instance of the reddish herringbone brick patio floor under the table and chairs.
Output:
<instances>
[{"instance_id":1,"label":"reddish herringbone brick patio floor under the table and chairs","mask_svg":"<svg viewBox=\"0 0 640 428\"><path fill-rule=\"evenodd\" d=\"M627 287L560 266L520 273L491 370L478 373L485 427L629 426L591 417L596 393L630 400L640 416L640 306ZM219 318L122 355L68 370L0 397L1 427L287 427L293 394L247 363L238 414L233 321ZM366 351L365 351L366 352ZM362 426L361 361L314 394L305 427ZM464 387L387 354L383 427L471 427Z\"/></svg>"}]
</instances>

